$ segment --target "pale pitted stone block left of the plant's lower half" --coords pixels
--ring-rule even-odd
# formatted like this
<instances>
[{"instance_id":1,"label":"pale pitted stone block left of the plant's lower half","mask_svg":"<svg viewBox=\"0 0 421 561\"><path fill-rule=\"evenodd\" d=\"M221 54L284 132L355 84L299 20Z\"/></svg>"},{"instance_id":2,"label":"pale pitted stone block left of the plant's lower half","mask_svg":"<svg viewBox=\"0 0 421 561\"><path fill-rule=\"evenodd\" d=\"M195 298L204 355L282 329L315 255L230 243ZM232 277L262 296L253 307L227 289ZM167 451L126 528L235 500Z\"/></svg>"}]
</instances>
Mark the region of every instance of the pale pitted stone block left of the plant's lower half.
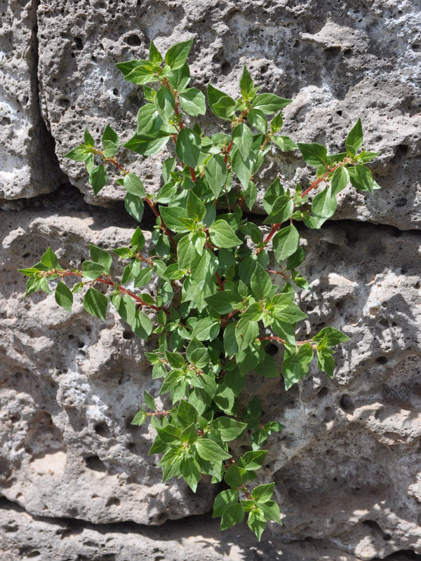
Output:
<instances>
[{"instance_id":1,"label":"pale pitted stone block left of the plant's lower half","mask_svg":"<svg viewBox=\"0 0 421 561\"><path fill-rule=\"evenodd\" d=\"M88 243L127 245L132 233L81 212L4 213L1 489L32 514L153 525L212 506L216 489L206 482L198 494L181 480L162 484L159 459L147 455L152 432L130 425L143 389L158 387L145 359L155 342L132 339L111 312L96 321L81 298L68 316L53 297L23 297L16 269L47 245L79 268Z\"/></svg>"}]
</instances>

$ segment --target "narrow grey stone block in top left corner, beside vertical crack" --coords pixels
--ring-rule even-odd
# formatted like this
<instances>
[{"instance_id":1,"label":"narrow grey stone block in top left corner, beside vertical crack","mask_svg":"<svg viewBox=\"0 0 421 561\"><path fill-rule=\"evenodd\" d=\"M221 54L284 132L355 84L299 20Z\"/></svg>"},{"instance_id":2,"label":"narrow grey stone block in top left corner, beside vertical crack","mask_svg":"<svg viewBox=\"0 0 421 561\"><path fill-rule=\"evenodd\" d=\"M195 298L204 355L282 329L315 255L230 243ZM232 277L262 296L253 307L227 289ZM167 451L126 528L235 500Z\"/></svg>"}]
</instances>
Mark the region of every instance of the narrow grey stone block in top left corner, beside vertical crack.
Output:
<instances>
[{"instance_id":1,"label":"narrow grey stone block in top left corner, beside vertical crack","mask_svg":"<svg viewBox=\"0 0 421 561\"><path fill-rule=\"evenodd\" d=\"M0 200L32 197L63 181L41 119L36 1L0 2Z\"/></svg>"}]
</instances>

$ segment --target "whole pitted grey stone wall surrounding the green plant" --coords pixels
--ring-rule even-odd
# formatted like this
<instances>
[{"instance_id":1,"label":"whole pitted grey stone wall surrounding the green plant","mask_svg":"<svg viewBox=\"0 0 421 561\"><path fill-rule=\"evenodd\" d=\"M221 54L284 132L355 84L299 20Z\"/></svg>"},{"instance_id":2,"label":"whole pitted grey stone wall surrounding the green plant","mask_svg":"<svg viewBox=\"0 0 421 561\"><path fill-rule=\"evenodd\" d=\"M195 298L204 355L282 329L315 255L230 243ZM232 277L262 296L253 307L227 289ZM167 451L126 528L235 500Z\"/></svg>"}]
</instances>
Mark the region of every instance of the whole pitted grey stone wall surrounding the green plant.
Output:
<instances>
[{"instance_id":1,"label":"whole pitted grey stone wall surrounding the green plant","mask_svg":"<svg viewBox=\"0 0 421 561\"><path fill-rule=\"evenodd\" d=\"M0 0L2 558L421 558L420 29L417 0ZM142 92L115 62L191 36L194 86L234 94L246 63L262 90L293 98L294 140L340 149L361 116L381 152L382 190L347 188L335 220L302 233L303 330L352 337L335 379L314 370L286 393L281 379L248 378L265 418L286 425L262 474L284 526L260 545L246 526L218 533L208 483L197 494L162 484L152 432L130 426L143 389L158 387L144 357L154 343L111 313L100 323L81 303L68 316L44 294L25 299L16 272L48 245L80 266L88 243L126 244L135 223L121 190L94 198L63 156L86 126L95 139L105 123L134 130ZM152 191L162 158L123 154ZM260 197L274 173L287 185L310 177L294 154L274 154Z\"/></svg>"}]
</instances>

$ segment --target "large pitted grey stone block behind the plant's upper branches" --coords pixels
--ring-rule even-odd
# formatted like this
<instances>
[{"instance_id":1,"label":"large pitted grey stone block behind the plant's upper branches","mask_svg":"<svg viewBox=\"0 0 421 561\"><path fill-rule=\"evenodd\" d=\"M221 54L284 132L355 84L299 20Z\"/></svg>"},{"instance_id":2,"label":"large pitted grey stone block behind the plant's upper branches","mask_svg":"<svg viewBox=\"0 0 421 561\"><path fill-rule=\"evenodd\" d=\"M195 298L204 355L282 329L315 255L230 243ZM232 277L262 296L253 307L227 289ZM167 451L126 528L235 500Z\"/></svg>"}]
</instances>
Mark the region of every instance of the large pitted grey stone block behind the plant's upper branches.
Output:
<instances>
[{"instance_id":1,"label":"large pitted grey stone block behind the plant's upper branches","mask_svg":"<svg viewBox=\"0 0 421 561\"><path fill-rule=\"evenodd\" d=\"M284 111L284 134L296 141L342 150L361 116L366 145L381 152L371 166L384 190L366 196L347 188L336 217L420 227L421 14L415 0L41 0L39 22L44 117L62 168L91 203L106 204L123 191L110 184L94 198L83 165L63 155L81 140L85 126L99 141L108 122L127 140L144 103L142 88L124 81L114 64L145 57L151 39L165 50L194 36L192 84L205 90L210 82L236 96L248 65L262 91L293 99ZM56 30L54 36L49 29ZM206 131L220 126L210 114L201 123ZM172 150L168 144L152 158L123 151L121 158L156 191L159 162ZM296 156L274 154L270 173L263 170L258 178L260 190L274 173L289 187L308 184L312 174ZM254 210L262 212L259 202Z\"/></svg>"}]
</instances>

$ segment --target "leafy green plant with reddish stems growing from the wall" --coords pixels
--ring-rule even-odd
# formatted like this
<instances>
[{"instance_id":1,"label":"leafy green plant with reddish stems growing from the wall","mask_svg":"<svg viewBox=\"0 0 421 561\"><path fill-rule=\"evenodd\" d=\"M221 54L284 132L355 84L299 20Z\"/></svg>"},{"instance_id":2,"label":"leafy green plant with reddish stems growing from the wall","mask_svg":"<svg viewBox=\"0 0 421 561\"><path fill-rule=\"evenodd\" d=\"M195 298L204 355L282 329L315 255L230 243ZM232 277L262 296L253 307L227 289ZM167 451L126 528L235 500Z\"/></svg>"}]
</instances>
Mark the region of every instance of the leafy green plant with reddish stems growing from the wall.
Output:
<instances>
[{"instance_id":1,"label":"leafy green plant with reddish stems growing from the wall","mask_svg":"<svg viewBox=\"0 0 421 561\"><path fill-rule=\"evenodd\" d=\"M295 339L297 323L307 317L294 302L295 290L309 285L298 271L305 252L294 222L320 228L335 212L336 196L349 181L361 191L378 189L364 165L377 154L359 151L360 119L340 154L328 155L321 144L295 144L279 135L281 110L290 100L258 93L246 67L239 99L208 86L210 109L229 126L226 133L203 135L191 119L206 111L203 93L188 87L191 46L192 40L176 44L163 61L152 42L149 60L117 65L126 80L143 86L147 100L124 147L149 156L169 140L175 143L175 156L163 161L158 194L146 194L140 178L116 159L119 136L108 125L102 149L86 130L83 144L67 154L86 163L95 195L107 182L105 164L116 170L116 182L126 189L128 213L140 222L144 203L154 212L151 243L138 227L130 247L114 250L128 262L119 281L111 274L112 256L94 245L81 271L62 269L48 248L41 262L21 272L29 277L27 295L51 293L49 283L57 280L55 300L71 312L73 294L87 288L83 305L88 313L104 320L111 302L139 337L156 334L157 349L147 358L152 377L163 378L160 393L168 394L172 407L157 411L155 399L145 391L145 405L133 424L149 419L156 429L150 454L163 454L164 481L182 477L196 491L201 474L213 482L225 480L229 488L216 496L214 508L214 516L222 517L221 529L241 522L247 513L248 526L260 539L267 520L281 523L279 506L272 500L274 483L251 489L250 482L265 463L262 445L283 426L260 423L258 398L243 407L238 398L248 372L279 376L265 351L269 342L283 346L287 390L309 374L314 353L318 367L333 377L333 347L349 337L325 327L311 339ZM267 116L272 116L269 123ZM276 177L265 192L267 217L258 227L243 217L243 207L251 210L256 201L255 176L270 149L299 149L316 178L306 189L298 184L290 192ZM325 187L309 205L308 194L321 184ZM265 224L270 227L266 234ZM279 270L271 268L269 241ZM154 294L144 288L152 276L159 279ZM70 290L64 280L72 278L77 282ZM131 283L134 288L127 288ZM108 297L95 286L108 289ZM248 439L251 450L234 459L228 443L239 438Z\"/></svg>"}]
</instances>

